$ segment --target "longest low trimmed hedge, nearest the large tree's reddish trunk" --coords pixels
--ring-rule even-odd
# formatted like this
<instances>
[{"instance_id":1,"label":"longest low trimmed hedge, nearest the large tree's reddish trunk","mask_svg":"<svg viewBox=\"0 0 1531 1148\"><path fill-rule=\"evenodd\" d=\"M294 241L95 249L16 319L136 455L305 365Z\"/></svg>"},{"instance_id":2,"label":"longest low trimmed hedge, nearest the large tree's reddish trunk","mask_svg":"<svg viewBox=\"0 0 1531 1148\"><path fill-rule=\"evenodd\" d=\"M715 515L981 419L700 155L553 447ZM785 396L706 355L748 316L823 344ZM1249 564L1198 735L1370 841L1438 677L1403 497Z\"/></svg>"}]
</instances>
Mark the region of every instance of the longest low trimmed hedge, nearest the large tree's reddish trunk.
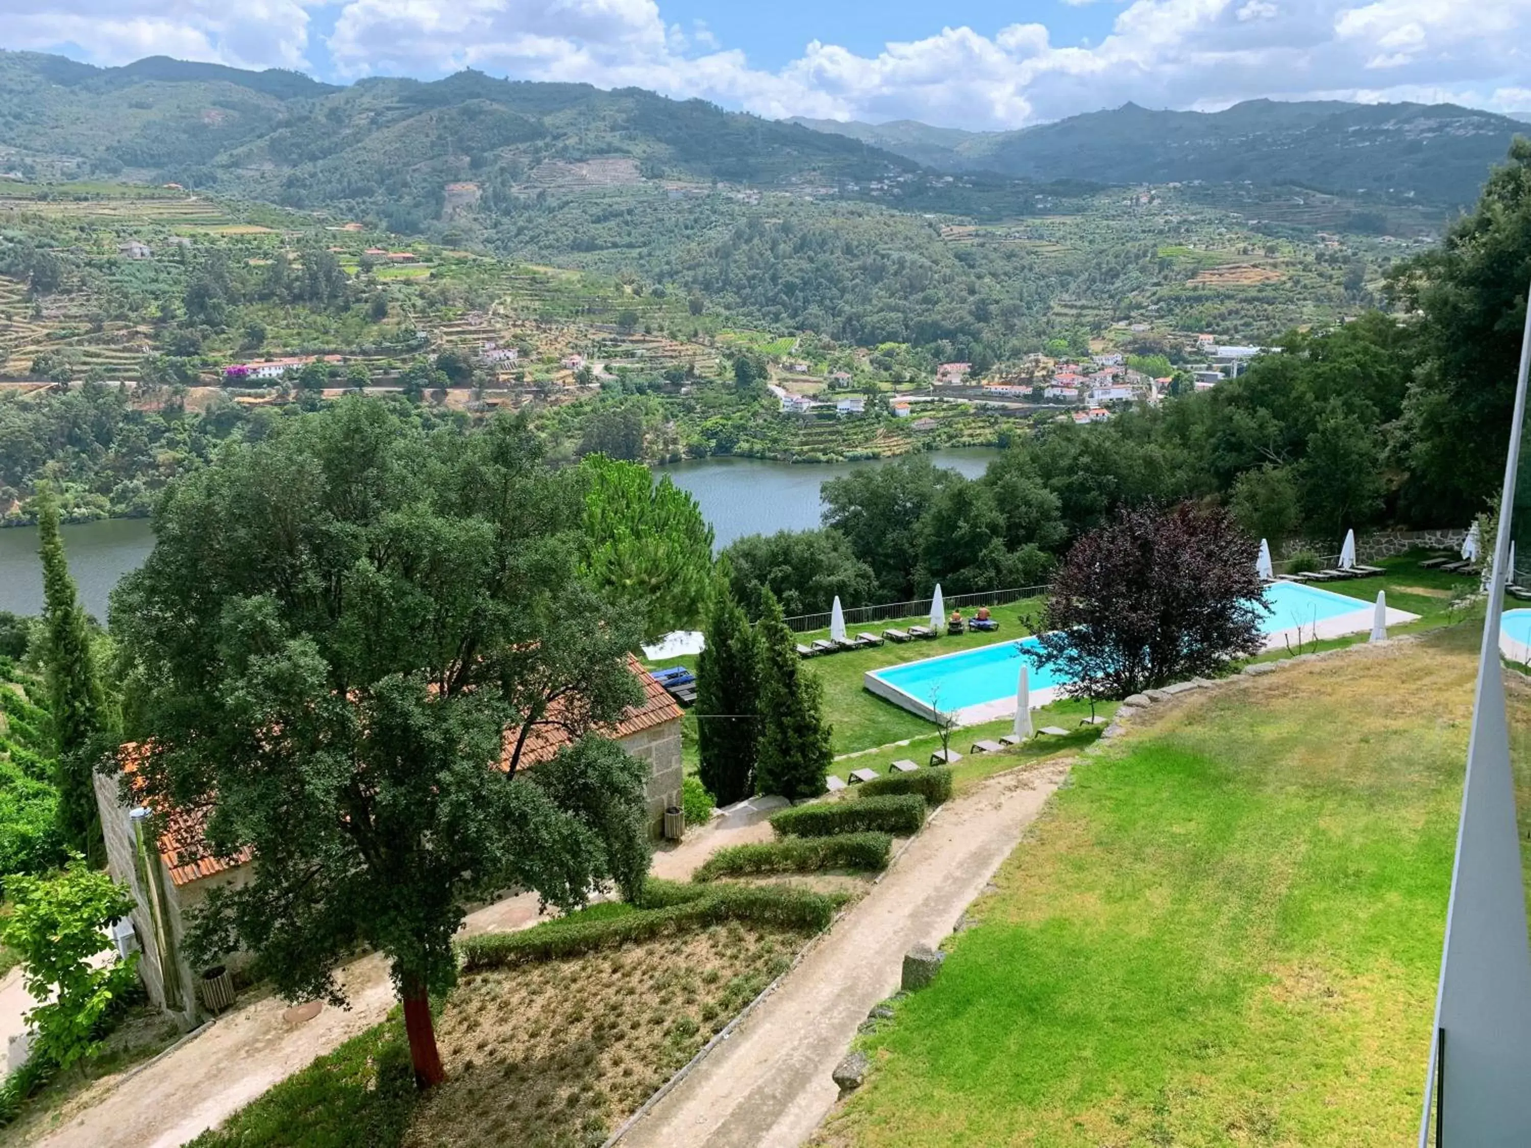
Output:
<instances>
[{"instance_id":1,"label":"longest low trimmed hedge, nearest the large tree's reddish trunk","mask_svg":"<svg viewBox=\"0 0 1531 1148\"><path fill-rule=\"evenodd\" d=\"M654 882L651 882L652 885ZM669 885L669 882L666 882ZM842 899L804 889L697 886L698 895L663 909L634 909L617 917L580 920L579 914L522 932L491 932L458 941L465 970L499 969L533 961L580 957L721 921L755 921L818 932L834 920ZM648 889L645 891L648 894Z\"/></svg>"}]
</instances>

